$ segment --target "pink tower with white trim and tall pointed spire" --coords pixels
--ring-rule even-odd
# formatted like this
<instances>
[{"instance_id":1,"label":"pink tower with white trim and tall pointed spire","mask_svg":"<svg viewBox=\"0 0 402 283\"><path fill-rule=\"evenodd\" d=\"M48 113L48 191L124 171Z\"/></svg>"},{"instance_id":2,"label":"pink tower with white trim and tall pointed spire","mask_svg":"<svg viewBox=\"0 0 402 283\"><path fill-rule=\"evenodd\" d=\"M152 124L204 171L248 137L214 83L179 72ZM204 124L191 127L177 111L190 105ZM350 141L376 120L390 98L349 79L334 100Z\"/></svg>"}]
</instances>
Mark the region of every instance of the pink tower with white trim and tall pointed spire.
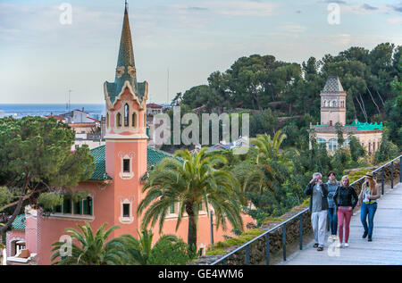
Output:
<instances>
[{"instance_id":1,"label":"pink tower with white trim and tall pointed spire","mask_svg":"<svg viewBox=\"0 0 402 283\"><path fill-rule=\"evenodd\" d=\"M113 178L114 223L135 234L141 177L147 172L147 81L138 82L127 2L114 82L105 82L105 170Z\"/></svg>"}]
</instances>

